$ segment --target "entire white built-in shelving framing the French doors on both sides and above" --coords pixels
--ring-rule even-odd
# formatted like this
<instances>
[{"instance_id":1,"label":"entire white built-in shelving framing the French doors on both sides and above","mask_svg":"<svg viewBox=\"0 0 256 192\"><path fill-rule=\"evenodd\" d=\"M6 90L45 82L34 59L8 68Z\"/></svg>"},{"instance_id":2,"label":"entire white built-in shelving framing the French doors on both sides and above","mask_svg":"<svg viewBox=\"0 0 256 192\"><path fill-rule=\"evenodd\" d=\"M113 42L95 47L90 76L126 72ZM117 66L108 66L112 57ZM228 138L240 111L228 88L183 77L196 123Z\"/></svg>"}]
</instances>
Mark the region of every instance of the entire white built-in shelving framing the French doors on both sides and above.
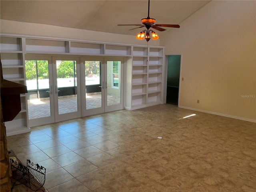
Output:
<instances>
[{"instance_id":1,"label":"entire white built-in shelving framing the French doors on both sides and above","mask_svg":"<svg viewBox=\"0 0 256 192\"><path fill-rule=\"evenodd\" d=\"M25 54L126 57L125 108L135 110L162 103L163 47L1 34L0 53L4 79L24 85ZM22 110L13 121L6 122L8 135L30 130L27 94L20 98Z\"/></svg>"}]
</instances>

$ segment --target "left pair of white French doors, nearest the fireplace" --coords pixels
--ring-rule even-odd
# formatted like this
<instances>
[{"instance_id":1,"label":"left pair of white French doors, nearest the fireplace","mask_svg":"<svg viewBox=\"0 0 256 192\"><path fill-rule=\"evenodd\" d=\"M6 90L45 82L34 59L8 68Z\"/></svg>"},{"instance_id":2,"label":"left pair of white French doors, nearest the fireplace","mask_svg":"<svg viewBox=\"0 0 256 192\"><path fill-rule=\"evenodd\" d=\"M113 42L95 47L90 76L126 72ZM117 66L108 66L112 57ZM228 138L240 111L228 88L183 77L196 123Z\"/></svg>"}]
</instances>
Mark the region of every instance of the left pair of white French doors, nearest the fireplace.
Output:
<instances>
[{"instance_id":1,"label":"left pair of white French doors, nearest the fireplace","mask_svg":"<svg viewBox=\"0 0 256 192\"><path fill-rule=\"evenodd\" d=\"M25 56L31 127L81 116L80 58Z\"/></svg>"}]
</instances>

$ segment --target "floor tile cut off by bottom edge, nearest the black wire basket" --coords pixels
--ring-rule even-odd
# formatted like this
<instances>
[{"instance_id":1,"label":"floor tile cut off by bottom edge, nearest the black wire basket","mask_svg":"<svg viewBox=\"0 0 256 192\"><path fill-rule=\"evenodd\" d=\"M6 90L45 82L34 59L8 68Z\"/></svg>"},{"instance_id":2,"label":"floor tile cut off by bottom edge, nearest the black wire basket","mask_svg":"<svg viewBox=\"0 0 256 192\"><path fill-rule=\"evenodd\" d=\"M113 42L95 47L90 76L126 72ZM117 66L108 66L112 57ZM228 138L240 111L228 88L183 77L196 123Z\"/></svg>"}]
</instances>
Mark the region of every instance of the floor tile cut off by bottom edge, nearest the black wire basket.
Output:
<instances>
[{"instance_id":1,"label":"floor tile cut off by bottom edge, nearest the black wire basket","mask_svg":"<svg viewBox=\"0 0 256 192\"><path fill-rule=\"evenodd\" d=\"M49 189L49 192L74 192L74 189L77 192L90 192L86 186L81 184L78 180L72 179L68 182L60 184L56 187Z\"/></svg>"}]
</instances>

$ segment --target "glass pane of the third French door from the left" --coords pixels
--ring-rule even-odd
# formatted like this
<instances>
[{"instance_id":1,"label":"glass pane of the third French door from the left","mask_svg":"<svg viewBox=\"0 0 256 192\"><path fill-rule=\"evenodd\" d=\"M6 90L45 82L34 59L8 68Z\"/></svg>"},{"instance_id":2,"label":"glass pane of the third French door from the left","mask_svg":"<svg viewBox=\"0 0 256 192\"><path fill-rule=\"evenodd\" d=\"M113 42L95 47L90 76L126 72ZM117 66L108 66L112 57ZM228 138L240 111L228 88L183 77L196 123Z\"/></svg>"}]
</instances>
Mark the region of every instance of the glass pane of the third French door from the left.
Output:
<instances>
[{"instance_id":1,"label":"glass pane of the third French door from the left","mask_svg":"<svg viewBox=\"0 0 256 192\"><path fill-rule=\"evenodd\" d=\"M102 89L104 83L101 84L101 61L86 60L85 65L85 94L86 94L86 110L102 107Z\"/></svg>"}]
</instances>

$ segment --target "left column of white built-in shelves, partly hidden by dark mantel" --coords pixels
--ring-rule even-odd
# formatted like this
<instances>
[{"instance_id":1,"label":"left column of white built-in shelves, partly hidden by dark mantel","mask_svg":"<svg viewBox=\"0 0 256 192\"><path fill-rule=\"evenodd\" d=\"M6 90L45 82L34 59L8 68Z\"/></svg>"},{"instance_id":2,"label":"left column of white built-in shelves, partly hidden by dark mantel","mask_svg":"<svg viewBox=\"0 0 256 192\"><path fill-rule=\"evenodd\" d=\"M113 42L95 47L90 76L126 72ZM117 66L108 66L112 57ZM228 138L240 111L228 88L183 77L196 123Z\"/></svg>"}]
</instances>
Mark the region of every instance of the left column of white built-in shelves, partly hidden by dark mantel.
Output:
<instances>
[{"instance_id":1,"label":"left column of white built-in shelves, partly hidden by dark mantel","mask_svg":"<svg viewBox=\"0 0 256 192\"><path fill-rule=\"evenodd\" d=\"M26 85L22 38L0 37L3 78ZM12 121L5 122L7 136L29 132L26 94L20 94L21 111Z\"/></svg>"}]
</instances>

